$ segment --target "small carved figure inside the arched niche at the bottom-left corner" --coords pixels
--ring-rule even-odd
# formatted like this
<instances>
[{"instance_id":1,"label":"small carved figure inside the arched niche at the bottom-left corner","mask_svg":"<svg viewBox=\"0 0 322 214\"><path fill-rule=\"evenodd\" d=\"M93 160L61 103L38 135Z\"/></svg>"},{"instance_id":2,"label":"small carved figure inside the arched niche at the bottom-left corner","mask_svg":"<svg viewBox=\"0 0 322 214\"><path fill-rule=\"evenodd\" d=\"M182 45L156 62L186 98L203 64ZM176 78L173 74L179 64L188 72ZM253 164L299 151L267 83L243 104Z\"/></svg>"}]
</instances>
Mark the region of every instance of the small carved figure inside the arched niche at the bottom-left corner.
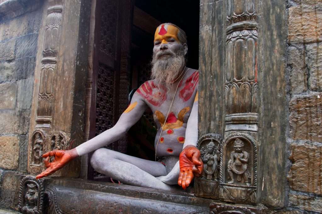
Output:
<instances>
[{"instance_id":1,"label":"small carved figure inside the arched niche at the bottom-left corner","mask_svg":"<svg viewBox=\"0 0 322 214\"><path fill-rule=\"evenodd\" d=\"M27 183L26 194L24 195L25 205L22 207L22 213L38 213L38 187L34 183Z\"/></svg>"}]
</instances>

